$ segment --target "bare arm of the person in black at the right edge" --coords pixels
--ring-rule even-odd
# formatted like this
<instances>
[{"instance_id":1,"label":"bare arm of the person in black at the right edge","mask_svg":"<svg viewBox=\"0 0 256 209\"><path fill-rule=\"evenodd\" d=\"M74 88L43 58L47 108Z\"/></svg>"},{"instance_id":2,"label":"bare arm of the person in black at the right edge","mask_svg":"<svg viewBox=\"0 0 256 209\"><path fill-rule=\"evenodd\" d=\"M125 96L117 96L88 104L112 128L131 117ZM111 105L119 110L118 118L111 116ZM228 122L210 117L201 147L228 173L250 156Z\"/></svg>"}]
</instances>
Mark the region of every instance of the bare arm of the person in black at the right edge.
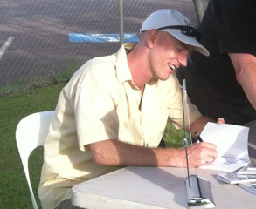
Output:
<instances>
[{"instance_id":1,"label":"bare arm of the person in black at the right edge","mask_svg":"<svg viewBox=\"0 0 256 209\"><path fill-rule=\"evenodd\" d=\"M237 81L256 110L256 57L241 53L229 53L229 57L235 68Z\"/></svg>"}]
</instances>

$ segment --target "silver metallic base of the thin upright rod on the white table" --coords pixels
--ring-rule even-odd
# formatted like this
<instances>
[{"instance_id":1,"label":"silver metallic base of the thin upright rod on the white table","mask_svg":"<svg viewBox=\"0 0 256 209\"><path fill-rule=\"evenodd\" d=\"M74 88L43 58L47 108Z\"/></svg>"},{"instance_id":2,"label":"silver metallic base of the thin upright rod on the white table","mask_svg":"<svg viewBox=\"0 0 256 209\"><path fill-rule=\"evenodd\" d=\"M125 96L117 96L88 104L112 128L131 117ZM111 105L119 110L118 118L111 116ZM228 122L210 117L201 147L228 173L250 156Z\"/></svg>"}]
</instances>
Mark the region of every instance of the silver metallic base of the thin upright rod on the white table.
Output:
<instances>
[{"instance_id":1,"label":"silver metallic base of the thin upright rod on the white table","mask_svg":"<svg viewBox=\"0 0 256 209\"><path fill-rule=\"evenodd\" d=\"M191 208L214 208L215 203L208 180L197 175L185 179L188 195L188 206Z\"/></svg>"}]
</instances>

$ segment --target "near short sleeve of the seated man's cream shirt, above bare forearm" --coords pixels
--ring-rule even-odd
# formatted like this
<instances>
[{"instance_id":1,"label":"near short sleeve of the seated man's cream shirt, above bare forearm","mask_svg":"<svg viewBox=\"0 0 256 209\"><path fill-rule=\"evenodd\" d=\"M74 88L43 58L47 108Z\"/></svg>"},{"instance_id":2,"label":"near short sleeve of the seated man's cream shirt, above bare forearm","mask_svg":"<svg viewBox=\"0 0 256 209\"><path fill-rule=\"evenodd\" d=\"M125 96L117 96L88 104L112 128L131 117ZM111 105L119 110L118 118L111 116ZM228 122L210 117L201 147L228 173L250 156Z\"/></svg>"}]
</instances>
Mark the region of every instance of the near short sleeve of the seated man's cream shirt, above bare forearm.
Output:
<instances>
[{"instance_id":1,"label":"near short sleeve of the seated man's cream shirt, above bare forearm","mask_svg":"<svg viewBox=\"0 0 256 209\"><path fill-rule=\"evenodd\" d=\"M96 66L99 68L100 64ZM87 71L80 79L74 101L81 150L84 145L118 137L114 99L108 91L109 73L97 68Z\"/></svg>"}]
</instances>

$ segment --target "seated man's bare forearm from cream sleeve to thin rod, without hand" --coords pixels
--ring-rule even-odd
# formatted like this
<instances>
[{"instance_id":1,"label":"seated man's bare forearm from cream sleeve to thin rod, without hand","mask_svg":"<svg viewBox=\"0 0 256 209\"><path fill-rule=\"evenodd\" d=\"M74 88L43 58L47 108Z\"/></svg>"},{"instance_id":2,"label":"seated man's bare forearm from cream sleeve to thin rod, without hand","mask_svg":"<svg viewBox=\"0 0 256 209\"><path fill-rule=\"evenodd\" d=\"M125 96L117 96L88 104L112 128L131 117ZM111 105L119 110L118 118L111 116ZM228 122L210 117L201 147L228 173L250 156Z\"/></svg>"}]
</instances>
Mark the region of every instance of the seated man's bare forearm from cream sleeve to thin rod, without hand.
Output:
<instances>
[{"instance_id":1,"label":"seated man's bare forearm from cream sleeve to thin rod, without hand","mask_svg":"<svg viewBox=\"0 0 256 209\"><path fill-rule=\"evenodd\" d=\"M90 145L94 160L99 165L114 166L177 166L181 155L174 148L148 148L108 139Z\"/></svg>"}]
</instances>

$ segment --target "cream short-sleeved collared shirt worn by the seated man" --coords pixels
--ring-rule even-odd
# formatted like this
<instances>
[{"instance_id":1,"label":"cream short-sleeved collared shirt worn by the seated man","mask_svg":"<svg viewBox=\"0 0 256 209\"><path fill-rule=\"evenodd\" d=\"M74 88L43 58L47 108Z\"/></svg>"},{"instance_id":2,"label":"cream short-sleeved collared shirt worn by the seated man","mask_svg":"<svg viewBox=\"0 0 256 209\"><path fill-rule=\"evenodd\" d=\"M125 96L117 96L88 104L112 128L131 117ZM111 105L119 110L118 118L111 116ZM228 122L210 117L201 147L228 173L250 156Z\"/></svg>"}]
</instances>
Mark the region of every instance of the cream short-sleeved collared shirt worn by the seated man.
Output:
<instances>
[{"instance_id":1,"label":"cream short-sleeved collared shirt worn by the seated man","mask_svg":"<svg viewBox=\"0 0 256 209\"><path fill-rule=\"evenodd\" d=\"M183 127L176 76L150 81L142 96L132 81L125 51L134 46L124 44L114 55L88 61L61 91L45 141L38 189L44 208L54 208L71 198L73 185L118 169L96 165L86 145L114 138L157 147L168 118L177 128ZM200 113L189 99L188 103L192 123Z\"/></svg>"}]
</instances>

